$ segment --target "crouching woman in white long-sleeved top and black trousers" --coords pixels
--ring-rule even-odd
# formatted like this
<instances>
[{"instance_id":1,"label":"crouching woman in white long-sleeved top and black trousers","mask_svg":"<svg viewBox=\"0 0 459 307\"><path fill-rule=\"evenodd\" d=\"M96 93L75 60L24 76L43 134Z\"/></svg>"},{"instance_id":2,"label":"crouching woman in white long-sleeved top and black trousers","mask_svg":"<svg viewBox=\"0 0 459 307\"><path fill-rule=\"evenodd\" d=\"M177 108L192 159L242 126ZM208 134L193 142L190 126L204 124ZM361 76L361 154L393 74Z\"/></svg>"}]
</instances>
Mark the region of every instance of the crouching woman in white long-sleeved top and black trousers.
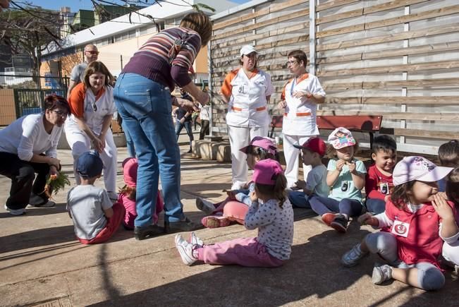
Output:
<instances>
[{"instance_id":1,"label":"crouching woman in white long-sleeved top and black trousers","mask_svg":"<svg viewBox=\"0 0 459 307\"><path fill-rule=\"evenodd\" d=\"M57 144L69 113L65 98L49 95L44 100L44 112L22 116L0 131L0 174L11 179L5 203L11 215L25 214L29 204L56 205L44 193L44 186L47 176L57 175L61 168Z\"/></svg>"}]
</instances>

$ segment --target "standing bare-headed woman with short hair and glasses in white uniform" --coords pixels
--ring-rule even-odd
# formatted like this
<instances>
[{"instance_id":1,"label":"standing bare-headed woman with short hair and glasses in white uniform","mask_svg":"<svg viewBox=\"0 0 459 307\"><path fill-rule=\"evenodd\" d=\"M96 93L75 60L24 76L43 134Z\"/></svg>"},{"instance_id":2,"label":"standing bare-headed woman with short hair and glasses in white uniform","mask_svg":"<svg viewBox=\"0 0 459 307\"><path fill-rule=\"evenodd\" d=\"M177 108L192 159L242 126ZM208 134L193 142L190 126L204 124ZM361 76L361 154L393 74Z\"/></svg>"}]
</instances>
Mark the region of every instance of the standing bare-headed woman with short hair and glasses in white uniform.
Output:
<instances>
[{"instance_id":1,"label":"standing bare-headed woman with short hair and glasses in white uniform","mask_svg":"<svg viewBox=\"0 0 459 307\"><path fill-rule=\"evenodd\" d=\"M316 123L317 104L325 101L325 92L319 79L306 71L307 56L301 50L288 54L287 66L293 78L288 80L281 95L279 109L283 113L283 154L286 157L287 187L295 189L298 181L300 151L293 145L303 144L312 136L319 135ZM311 167L303 164L304 178Z\"/></svg>"}]
</instances>

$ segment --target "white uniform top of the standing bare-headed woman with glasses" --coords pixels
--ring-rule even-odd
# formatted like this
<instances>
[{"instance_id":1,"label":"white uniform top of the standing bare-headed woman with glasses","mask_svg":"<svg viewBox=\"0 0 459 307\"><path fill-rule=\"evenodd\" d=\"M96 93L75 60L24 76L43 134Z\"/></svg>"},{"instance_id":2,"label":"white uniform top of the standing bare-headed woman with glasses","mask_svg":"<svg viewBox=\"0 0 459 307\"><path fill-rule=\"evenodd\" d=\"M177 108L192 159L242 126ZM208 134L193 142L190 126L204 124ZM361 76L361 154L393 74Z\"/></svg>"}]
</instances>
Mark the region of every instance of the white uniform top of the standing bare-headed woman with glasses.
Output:
<instances>
[{"instance_id":1,"label":"white uniform top of the standing bare-headed woman with glasses","mask_svg":"<svg viewBox=\"0 0 459 307\"><path fill-rule=\"evenodd\" d=\"M317 104L307 97L295 98L297 91L310 92L325 97L325 91L319 79L306 73L302 78L293 78L283 88L281 99L285 99L287 107L283 116L282 133L290 136L318 136L316 123Z\"/></svg>"}]
</instances>

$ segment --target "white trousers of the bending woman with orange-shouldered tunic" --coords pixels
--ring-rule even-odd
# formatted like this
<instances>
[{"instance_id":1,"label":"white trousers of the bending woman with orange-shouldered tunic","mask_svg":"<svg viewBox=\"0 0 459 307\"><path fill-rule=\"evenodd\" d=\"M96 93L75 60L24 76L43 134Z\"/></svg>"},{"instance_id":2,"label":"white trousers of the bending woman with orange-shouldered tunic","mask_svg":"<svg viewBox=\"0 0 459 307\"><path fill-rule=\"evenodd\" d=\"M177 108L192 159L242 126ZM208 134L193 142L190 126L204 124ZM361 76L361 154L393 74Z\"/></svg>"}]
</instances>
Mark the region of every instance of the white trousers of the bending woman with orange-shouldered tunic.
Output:
<instances>
[{"instance_id":1,"label":"white trousers of the bending woman with orange-shouldered tunic","mask_svg":"<svg viewBox=\"0 0 459 307\"><path fill-rule=\"evenodd\" d=\"M73 174L75 174L75 180L77 184L81 183L80 175L76 171L76 164L78 157L91 150L91 140L89 136L80 130L78 125L66 124L65 128L67 143L72 149L73 155ZM100 154L102 162L104 162L104 174L105 189L107 192L116 193L116 145L111 133L111 129L106 131L105 136L105 148Z\"/></svg>"}]
</instances>

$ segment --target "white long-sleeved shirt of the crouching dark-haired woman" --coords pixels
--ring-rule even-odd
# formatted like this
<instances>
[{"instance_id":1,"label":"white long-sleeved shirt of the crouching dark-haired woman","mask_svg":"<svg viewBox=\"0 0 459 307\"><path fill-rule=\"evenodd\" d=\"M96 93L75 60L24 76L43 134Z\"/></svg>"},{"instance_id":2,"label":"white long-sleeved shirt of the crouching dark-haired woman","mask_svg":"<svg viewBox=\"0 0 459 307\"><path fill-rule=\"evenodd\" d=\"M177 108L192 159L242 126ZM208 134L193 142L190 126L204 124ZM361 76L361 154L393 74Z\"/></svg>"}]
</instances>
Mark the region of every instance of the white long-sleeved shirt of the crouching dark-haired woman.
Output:
<instances>
[{"instance_id":1,"label":"white long-sleeved shirt of the crouching dark-haired woman","mask_svg":"<svg viewBox=\"0 0 459 307\"><path fill-rule=\"evenodd\" d=\"M13 121L0 131L0 152L18 155L19 159L30 161L34 154L44 153L57 157L57 144L63 127L54 125L51 133L44 130L44 114L30 114Z\"/></svg>"}]
</instances>

